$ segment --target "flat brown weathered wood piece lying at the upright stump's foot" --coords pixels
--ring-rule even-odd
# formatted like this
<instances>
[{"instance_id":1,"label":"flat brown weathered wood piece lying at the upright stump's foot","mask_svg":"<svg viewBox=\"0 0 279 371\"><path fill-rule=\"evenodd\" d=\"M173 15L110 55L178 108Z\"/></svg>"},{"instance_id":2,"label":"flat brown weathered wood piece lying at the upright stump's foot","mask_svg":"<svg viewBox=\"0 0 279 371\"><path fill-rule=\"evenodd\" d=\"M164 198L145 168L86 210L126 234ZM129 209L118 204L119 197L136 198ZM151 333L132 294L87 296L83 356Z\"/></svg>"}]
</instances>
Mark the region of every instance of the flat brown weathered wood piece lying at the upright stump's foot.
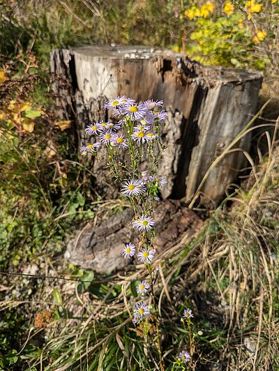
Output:
<instances>
[{"instance_id":1,"label":"flat brown weathered wood piece lying at the upright stump's foot","mask_svg":"<svg viewBox=\"0 0 279 371\"><path fill-rule=\"evenodd\" d=\"M139 236L130 223L133 216L133 209L130 208L112 215L97 227L89 223L68 243L65 258L98 273L123 268L128 264L121 253L124 245L139 242ZM192 236L202 225L202 220L194 211L187 209L178 200L159 202L153 217L156 227L154 245L158 254L179 243L182 236ZM128 260L132 262L132 259Z\"/></svg>"}]
</instances>

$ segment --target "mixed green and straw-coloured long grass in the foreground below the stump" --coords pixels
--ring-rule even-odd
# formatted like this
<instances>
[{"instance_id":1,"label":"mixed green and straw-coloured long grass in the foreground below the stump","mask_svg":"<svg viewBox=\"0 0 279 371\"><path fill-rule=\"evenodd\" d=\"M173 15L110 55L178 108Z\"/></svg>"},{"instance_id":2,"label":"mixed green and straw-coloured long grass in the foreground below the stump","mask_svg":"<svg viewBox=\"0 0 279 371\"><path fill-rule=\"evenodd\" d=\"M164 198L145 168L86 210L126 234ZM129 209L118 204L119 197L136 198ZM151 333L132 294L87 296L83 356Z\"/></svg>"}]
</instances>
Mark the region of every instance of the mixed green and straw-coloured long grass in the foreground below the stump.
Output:
<instances>
[{"instance_id":1,"label":"mixed green and straw-coloured long grass in the foreground below the stump","mask_svg":"<svg viewBox=\"0 0 279 371\"><path fill-rule=\"evenodd\" d=\"M188 342L179 315L185 306L195 313L197 370L279 367L278 146L273 142L269 149L249 188L236 188L193 239L158 257L166 370L175 369L176 351ZM152 321L135 328L128 310L144 269L103 280L72 273L86 286L56 285L59 300L50 308L60 308L61 315L40 330L50 338L37 349L34 370L156 370ZM70 298L69 289L75 291ZM33 329L31 338L36 336Z\"/></svg>"}]
</instances>

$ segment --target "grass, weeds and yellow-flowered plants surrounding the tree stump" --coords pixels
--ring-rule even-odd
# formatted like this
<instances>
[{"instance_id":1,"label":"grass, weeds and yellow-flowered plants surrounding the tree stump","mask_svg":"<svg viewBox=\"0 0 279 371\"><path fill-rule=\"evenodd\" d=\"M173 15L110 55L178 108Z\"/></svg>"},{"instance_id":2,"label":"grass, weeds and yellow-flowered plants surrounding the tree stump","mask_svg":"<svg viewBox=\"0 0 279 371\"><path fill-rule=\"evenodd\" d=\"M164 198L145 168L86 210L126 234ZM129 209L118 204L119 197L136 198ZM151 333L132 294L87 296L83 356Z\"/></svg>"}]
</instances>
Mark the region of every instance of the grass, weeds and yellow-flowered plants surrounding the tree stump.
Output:
<instances>
[{"instance_id":1,"label":"grass, weeds and yellow-flowered plants surrounding the tree stump","mask_svg":"<svg viewBox=\"0 0 279 371\"><path fill-rule=\"evenodd\" d=\"M0 370L154 370L152 328L135 333L123 303L122 287L131 298L140 273L94 278L61 259L80 225L122 204L96 195L55 116L50 52L157 45L278 77L279 2L10 0L0 8L0 271L10 273L1 273ZM279 368L275 114L261 121L273 129L254 146L248 185L207 215L195 239L165 253L168 294L160 284L156 292L169 370L189 340L178 315L186 306L195 312L197 370Z\"/></svg>"}]
</instances>

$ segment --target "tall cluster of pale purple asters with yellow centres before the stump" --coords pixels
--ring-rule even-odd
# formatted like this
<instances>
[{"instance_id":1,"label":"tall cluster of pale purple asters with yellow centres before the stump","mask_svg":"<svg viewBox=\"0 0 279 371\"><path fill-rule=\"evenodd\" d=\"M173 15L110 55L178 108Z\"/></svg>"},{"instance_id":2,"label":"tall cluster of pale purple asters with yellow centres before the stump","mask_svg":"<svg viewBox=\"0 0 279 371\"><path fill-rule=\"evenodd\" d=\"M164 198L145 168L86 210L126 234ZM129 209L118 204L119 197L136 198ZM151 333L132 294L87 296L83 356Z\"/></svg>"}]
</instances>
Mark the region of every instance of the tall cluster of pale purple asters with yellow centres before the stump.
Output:
<instances>
[{"instance_id":1,"label":"tall cluster of pale purple asters with yellow centres before the stump","mask_svg":"<svg viewBox=\"0 0 279 371\"><path fill-rule=\"evenodd\" d=\"M149 273L149 282L140 280L137 285L140 301L133 304L133 322L137 324L149 317L150 307L144 301L146 296L149 296L149 303L153 303L153 312L158 321L158 308L153 292L158 272L152 265L156 255L156 248L153 247L155 222L152 213L153 202L159 200L158 189L167 183L166 179L156 174L158 160L164 149L160 142L160 129L167 119L167 112L163 109L162 100L149 99L144 103L137 103L126 96L110 99L104 107L114 116L113 122L100 121L87 126L85 131L91 135L93 144L82 146L80 151L84 154L92 153L98 160L106 153L105 164L110 167L116 180L121 181L121 194L133 204L135 216L131 225L138 232L140 241L137 245L127 241L122 254L126 259L136 257L138 262L145 264ZM101 148L105 151L100 151ZM122 157L121 152L124 153ZM146 167L145 161L144 171L141 171L143 154L148 159L149 166ZM158 323L156 328L160 349ZM159 353L163 368L163 359L161 352Z\"/></svg>"}]
</instances>

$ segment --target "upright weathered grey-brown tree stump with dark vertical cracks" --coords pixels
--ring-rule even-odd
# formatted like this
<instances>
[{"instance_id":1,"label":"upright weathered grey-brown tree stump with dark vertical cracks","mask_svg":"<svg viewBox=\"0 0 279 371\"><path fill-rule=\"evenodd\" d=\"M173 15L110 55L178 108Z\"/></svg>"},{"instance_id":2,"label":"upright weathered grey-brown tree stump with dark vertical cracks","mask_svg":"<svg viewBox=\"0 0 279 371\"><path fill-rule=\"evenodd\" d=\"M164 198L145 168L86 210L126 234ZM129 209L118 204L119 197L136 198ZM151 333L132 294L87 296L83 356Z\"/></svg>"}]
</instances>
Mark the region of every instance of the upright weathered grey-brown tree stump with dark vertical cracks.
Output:
<instances>
[{"instance_id":1,"label":"upright weathered grey-brown tree stump with dark vertical cracks","mask_svg":"<svg viewBox=\"0 0 279 371\"><path fill-rule=\"evenodd\" d=\"M58 114L73 120L77 147L90 139L84 128L110 119L106 100L126 95L137 101L163 100L167 121L163 142L167 150L158 175L167 178L163 198L190 199L213 160L232 142L255 114L262 77L257 72L202 66L185 54L166 49L92 45L54 50L52 72ZM250 136L237 144L248 151ZM105 170L92 160L98 179ZM246 158L229 153L211 171L202 188L203 204L218 202L236 180ZM111 176L105 175L107 183Z\"/></svg>"}]
</instances>

